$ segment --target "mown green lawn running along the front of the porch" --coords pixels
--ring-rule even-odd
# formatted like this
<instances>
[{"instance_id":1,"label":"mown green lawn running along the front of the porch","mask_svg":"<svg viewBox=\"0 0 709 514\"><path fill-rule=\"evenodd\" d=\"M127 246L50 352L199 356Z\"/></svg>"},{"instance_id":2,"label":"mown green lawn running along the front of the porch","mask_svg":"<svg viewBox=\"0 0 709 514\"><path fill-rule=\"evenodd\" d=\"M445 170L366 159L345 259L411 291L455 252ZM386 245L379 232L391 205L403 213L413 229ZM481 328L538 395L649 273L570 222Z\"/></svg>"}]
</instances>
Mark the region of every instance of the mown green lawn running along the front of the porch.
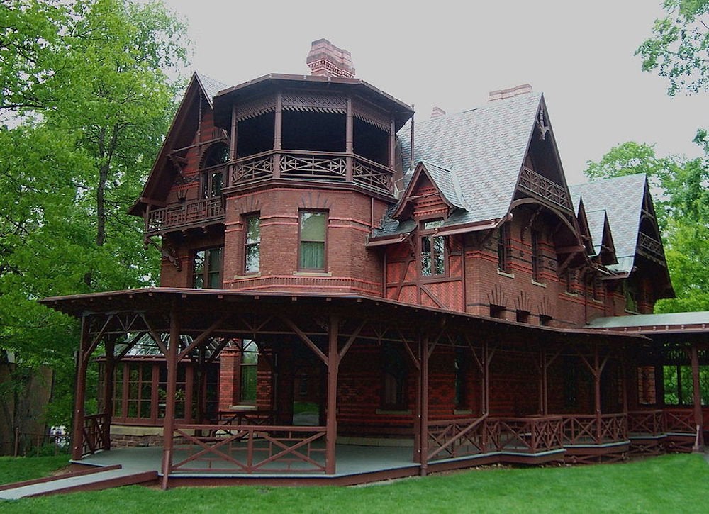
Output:
<instances>
[{"instance_id":1,"label":"mown green lawn running along the front of the porch","mask_svg":"<svg viewBox=\"0 0 709 514\"><path fill-rule=\"evenodd\" d=\"M42 458L38 458L42 459ZM27 459L30 460L30 459ZM0 461L4 466L9 461ZM14 466L14 464L10 464ZM18 464L22 466L23 464ZM51 466L50 466L51 467ZM489 467L358 487L157 488L130 486L0 501L3 513L705 513L709 465L698 454L630 464Z\"/></svg>"}]
</instances>

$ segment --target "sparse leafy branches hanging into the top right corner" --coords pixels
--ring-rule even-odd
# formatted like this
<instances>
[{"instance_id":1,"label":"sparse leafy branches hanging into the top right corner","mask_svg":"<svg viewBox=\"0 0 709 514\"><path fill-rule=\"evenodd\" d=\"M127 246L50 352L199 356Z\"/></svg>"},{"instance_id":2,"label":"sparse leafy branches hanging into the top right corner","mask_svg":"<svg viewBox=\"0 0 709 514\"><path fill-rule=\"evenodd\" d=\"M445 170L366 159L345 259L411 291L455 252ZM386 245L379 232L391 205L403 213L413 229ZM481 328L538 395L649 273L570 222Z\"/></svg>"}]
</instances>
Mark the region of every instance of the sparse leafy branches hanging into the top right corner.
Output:
<instances>
[{"instance_id":1,"label":"sparse leafy branches hanging into the top right corner","mask_svg":"<svg viewBox=\"0 0 709 514\"><path fill-rule=\"evenodd\" d=\"M635 52L642 69L669 79L670 96L709 86L709 0L664 0L664 18Z\"/></svg>"}]
</instances>

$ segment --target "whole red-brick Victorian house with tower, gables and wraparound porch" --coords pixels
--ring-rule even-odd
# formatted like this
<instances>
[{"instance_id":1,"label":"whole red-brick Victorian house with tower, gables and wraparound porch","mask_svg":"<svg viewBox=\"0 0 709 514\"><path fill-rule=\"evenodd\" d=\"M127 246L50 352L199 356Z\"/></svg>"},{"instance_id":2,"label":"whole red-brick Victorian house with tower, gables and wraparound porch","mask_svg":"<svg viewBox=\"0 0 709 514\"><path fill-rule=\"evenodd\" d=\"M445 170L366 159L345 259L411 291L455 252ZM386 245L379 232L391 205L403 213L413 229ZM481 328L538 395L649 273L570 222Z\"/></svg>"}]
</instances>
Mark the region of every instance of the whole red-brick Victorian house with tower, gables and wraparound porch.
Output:
<instances>
[{"instance_id":1,"label":"whole red-brick Victorian house with tower, gables and wraparound porch","mask_svg":"<svg viewBox=\"0 0 709 514\"><path fill-rule=\"evenodd\" d=\"M665 405L666 363L698 384L707 354L651 314L674 293L644 176L569 188L528 84L420 121L328 40L308 65L194 74L130 211L160 287L43 301L82 319L74 459L351 484L702 444L699 386Z\"/></svg>"}]
</instances>

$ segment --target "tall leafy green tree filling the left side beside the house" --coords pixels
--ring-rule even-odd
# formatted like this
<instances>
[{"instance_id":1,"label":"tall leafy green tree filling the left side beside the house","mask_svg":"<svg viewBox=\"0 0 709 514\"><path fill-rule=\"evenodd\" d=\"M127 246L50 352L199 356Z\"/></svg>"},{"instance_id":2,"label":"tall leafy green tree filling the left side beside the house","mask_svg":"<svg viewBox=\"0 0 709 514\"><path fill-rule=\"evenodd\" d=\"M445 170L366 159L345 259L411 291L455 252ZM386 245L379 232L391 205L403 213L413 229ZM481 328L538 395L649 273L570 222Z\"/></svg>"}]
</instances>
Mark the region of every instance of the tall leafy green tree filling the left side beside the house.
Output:
<instances>
[{"instance_id":1,"label":"tall leafy green tree filling the left side beside the house","mask_svg":"<svg viewBox=\"0 0 709 514\"><path fill-rule=\"evenodd\" d=\"M0 365L50 364L66 397L78 326L36 300L152 284L157 255L127 211L174 113L185 30L160 3L0 0L0 16L14 117L0 127Z\"/></svg>"}]
</instances>

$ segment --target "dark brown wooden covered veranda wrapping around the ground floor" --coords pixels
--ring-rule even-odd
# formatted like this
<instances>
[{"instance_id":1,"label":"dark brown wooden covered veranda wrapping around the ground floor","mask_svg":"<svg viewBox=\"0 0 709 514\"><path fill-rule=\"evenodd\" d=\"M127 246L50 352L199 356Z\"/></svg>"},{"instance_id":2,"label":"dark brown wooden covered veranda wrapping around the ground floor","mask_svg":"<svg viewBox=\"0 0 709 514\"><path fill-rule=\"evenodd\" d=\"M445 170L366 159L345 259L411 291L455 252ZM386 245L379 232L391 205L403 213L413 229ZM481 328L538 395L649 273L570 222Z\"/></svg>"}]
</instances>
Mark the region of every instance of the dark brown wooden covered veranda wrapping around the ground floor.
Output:
<instances>
[{"instance_id":1,"label":"dark brown wooden covered veranda wrapping around the ground floor","mask_svg":"<svg viewBox=\"0 0 709 514\"><path fill-rule=\"evenodd\" d=\"M116 363L132 342L146 335L160 349L167 366L162 446L149 453L152 459L159 455L164 488L190 478L335 479L356 470L358 460L369 463L369 471L352 473L367 481L492 462L535 464L569 457L583 462L605 455L620 459L630 445L627 350L649 342L636 334L536 327L356 295L150 288L46 298L43 303L82 320L72 432L77 461L111 449ZM295 425L292 411L282 408L277 394L268 418L207 419L201 387L196 388L194 423L177 420L179 363L190 361L199 369L235 339L253 340L259 353L271 357L294 345L307 349L324 369L321 423ZM385 416L360 420L359 427L384 430L379 425L396 425L401 444L347 437L338 441L338 423L345 418L338 414L340 364L353 348L384 342L397 345L414 370L413 408L396 423ZM437 371L430 361L459 348L473 376L468 394L476 399L474 408L445 415L432 398L436 386L431 376ZM86 415L86 370L101 350L104 408ZM559 370L569 359L585 370L587 398L570 398L576 404L561 408ZM284 360L273 363L274 389L279 387L277 376L288 374ZM505 377L510 365L528 367L533 379L509 389ZM196 375L199 381L199 371ZM497 396L506 396L509 405ZM517 403L524 408L515 408Z\"/></svg>"}]
</instances>

